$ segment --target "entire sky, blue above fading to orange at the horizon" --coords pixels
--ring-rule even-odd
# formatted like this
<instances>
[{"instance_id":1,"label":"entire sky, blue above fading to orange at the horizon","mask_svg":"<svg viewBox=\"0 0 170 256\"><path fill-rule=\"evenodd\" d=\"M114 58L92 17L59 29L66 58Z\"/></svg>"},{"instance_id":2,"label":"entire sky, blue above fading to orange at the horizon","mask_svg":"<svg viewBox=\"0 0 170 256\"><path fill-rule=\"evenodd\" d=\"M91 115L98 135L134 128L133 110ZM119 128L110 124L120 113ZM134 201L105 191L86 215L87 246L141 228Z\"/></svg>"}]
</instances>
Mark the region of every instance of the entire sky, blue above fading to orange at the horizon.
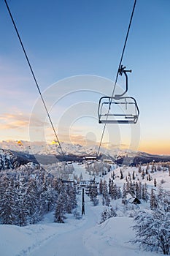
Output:
<instances>
[{"instance_id":1,"label":"entire sky, blue above fading to orange at the horizon","mask_svg":"<svg viewBox=\"0 0 170 256\"><path fill-rule=\"evenodd\" d=\"M112 94L134 1L8 4L59 140L98 145L98 100ZM103 146L170 154L169 10L169 0L136 2L123 65L133 70L128 96L139 105L139 122L107 125ZM0 34L0 140L53 140L4 1ZM116 90L121 88L123 77Z\"/></svg>"}]
</instances>

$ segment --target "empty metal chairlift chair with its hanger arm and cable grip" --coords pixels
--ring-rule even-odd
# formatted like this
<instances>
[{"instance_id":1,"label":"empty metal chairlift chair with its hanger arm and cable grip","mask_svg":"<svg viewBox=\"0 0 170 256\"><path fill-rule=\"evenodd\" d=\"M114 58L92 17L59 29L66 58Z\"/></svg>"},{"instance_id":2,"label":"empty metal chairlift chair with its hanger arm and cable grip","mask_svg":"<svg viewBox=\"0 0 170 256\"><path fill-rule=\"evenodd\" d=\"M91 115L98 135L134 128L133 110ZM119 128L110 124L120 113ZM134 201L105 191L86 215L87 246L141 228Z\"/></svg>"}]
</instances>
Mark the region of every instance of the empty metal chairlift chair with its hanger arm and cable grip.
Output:
<instances>
[{"instance_id":1,"label":"empty metal chairlift chair with its hanger arm and cable grip","mask_svg":"<svg viewBox=\"0 0 170 256\"><path fill-rule=\"evenodd\" d=\"M101 97L98 104L99 124L136 124L139 118L139 108L134 97L125 97L128 91L128 75L125 67L121 66L119 75L125 75L125 91L115 97Z\"/></svg>"}]
</instances>

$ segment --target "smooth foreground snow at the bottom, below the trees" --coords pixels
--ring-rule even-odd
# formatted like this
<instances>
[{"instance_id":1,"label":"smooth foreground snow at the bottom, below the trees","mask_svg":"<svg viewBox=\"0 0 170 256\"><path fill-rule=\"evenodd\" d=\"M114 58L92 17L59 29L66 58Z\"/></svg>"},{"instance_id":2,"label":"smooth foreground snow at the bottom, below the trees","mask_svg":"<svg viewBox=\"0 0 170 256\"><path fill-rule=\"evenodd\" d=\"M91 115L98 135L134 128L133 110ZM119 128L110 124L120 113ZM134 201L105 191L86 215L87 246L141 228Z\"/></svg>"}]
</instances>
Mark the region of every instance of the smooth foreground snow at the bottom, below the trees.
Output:
<instances>
[{"instance_id":1,"label":"smooth foreground snow at the bottom, below the trees","mask_svg":"<svg viewBox=\"0 0 170 256\"><path fill-rule=\"evenodd\" d=\"M133 219L115 217L99 223L101 206L92 206L86 195L85 216L69 217L66 223L53 222L53 213L39 224L17 227L0 226L0 249L3 256L160 256L142 252L128 243L134 238Z\"/></svg>"}]
</instances>

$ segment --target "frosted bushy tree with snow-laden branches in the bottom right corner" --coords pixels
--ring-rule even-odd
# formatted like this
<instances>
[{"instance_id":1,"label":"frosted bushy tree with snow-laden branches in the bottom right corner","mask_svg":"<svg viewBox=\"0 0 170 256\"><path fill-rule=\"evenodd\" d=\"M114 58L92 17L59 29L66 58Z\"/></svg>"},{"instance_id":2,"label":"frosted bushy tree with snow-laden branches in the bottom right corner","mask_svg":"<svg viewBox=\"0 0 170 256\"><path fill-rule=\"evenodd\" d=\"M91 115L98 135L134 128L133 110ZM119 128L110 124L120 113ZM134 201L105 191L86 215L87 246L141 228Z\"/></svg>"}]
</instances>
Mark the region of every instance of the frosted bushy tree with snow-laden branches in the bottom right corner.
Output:
<instances>
[{"instance_id":1,"label":"frosted bushy tree with snow-laden branches in the bottom right corner","mask_svg":"<svg viewBox=\"0 0 170 256\"><path fill-rule=\"evenodd\" d=\"M135 217L136 231L134 244L139 243L142 249L154 252L170 253L170 213L164 211L164 207L153 209L151 212L140 211Z\"/></svg>"}]
</instances>

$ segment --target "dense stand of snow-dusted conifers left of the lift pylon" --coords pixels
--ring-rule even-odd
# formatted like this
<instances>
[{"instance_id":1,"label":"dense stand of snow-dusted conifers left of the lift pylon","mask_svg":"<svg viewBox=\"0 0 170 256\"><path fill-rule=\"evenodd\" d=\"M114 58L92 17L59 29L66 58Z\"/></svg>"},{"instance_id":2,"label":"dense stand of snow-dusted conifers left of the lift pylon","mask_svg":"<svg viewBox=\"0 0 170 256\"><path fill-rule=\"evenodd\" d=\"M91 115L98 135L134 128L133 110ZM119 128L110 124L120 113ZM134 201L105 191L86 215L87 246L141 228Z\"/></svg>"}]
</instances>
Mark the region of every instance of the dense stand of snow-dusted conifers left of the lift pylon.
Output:
<instances>
[{"instance_id":1,"label":"dense stand of snow-dusted conifers left of the lift pylon","mask_svg":"<svg viewBox=\"0 0 170 256\"><path fill-rule=\"evenodd\" d=\"M64 184L39 165L29 163L0 173L1 224L34 224L53 210L54 221L63 222L63 215L76 206L74 185Z\"/></svg>"}]
</instances>

